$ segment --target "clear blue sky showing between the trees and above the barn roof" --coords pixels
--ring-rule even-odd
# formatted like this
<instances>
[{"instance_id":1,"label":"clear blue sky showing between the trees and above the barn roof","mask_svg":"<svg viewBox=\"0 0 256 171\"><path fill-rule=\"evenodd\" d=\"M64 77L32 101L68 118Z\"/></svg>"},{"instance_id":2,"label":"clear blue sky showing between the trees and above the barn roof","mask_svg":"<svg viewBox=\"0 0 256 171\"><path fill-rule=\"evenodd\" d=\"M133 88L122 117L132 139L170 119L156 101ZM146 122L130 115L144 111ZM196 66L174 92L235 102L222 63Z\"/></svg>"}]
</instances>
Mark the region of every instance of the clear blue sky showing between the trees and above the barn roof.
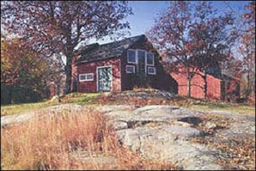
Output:
<instances>
[{"instance_id":1,"label":"clear blue sky showing between the trees and above the barn roof","mask_svg":"<svg viewBox=\"0 0 256 171\"><path fill-rule=\"evenodd\" d=\"M226 4L229 4L231 8L237 13L243 13L245 4L249 4L249 1L211 1L220 12L229 10ZM137 36L144 34L147 30L154 25L154 19L157 14L166 10L170 1L129 1L129 6L132 7L134 15L128 16L127 21L130 23L131 29L130 36ZM129 36L129 35L127 35ZM90 43L95 42L95 39ZM112 40L105 38L104 40L97 41L98 43L112 42Z\"/></svg>"}]
</instances>

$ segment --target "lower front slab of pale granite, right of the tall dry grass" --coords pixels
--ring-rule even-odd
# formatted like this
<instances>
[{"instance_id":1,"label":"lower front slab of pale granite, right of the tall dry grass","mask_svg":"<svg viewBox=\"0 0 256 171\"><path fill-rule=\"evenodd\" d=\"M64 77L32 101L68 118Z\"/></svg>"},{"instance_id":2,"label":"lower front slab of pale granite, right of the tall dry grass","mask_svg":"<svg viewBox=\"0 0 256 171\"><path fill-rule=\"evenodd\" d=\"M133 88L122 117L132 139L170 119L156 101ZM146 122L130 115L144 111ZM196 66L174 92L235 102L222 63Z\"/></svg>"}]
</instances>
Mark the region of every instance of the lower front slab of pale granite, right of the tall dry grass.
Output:
<instances>
[{"instance_id":1,"label":"lower front slab of pale granite, right of the tall dry grass","mask_svg":"<svg viewBox=\"0 0 256 171\"><path fill-rule=\"evenodd\" d=\"M186 133L182 133L182 131L177 131L182 129L179 127L165 125L161 127L158 129L147 127L122 129L118 131L118 138L123 146L129 147L134 152L139 152L144 158L170 161L170 163L178 164L184 170L191 170L191 168L202 170L221 169L217 164L213 164L214 152L211 152L210 149L203 145L198 145L200 148L193 146L190 142L179 138L179 136L193 136L188 130L185 131ZM199 134L195 130L192 132L196 132L196 135ZM201 154L207 155L208 158L198 158Z\"/></svg>"}]
</instances>

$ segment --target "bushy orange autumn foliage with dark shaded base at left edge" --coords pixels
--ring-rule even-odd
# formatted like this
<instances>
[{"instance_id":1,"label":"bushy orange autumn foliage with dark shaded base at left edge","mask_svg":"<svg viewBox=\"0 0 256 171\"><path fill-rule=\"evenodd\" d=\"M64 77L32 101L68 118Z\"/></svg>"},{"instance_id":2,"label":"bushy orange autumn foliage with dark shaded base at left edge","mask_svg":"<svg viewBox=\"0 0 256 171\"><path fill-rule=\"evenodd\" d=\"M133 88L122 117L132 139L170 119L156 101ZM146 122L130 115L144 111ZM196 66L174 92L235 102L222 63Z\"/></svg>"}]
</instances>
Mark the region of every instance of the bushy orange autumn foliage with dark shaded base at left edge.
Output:
<instances>
[{"instance_id":1,"label":"bushy orange autumn foliage with dark shaded base at left edge","mask_svg":"<svg viewBox=\"0 0 256 171\"><path fill-rule=\"evenodd\" d=\"M1 37L1 103L34 102L46 88L48 62L21 42Z\"/></svg>"}]
</instances>

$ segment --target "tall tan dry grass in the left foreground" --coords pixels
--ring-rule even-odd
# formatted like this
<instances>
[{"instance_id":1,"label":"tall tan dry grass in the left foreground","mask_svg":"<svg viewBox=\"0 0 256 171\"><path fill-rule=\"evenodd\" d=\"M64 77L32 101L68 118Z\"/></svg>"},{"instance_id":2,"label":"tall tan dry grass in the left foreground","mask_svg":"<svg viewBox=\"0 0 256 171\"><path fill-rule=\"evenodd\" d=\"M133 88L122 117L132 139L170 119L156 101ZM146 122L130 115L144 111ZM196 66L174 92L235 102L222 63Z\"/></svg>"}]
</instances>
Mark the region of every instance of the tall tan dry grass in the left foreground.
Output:
<instances>
[{"instance_id":1,"label":"tall tan dry grass in the left foreground","mask_svg":"<svg viewBox=\"0 0 256 171\"><path fill-rule=\"evenodd\" d=\"M98 112L43 114L20 125L1 128L1 170L175 170L150 161L118 143L107 118ZM114 156L117 164L95 164L97 158L75 158L86 151Z\"/></svg>"}]
</instances>

